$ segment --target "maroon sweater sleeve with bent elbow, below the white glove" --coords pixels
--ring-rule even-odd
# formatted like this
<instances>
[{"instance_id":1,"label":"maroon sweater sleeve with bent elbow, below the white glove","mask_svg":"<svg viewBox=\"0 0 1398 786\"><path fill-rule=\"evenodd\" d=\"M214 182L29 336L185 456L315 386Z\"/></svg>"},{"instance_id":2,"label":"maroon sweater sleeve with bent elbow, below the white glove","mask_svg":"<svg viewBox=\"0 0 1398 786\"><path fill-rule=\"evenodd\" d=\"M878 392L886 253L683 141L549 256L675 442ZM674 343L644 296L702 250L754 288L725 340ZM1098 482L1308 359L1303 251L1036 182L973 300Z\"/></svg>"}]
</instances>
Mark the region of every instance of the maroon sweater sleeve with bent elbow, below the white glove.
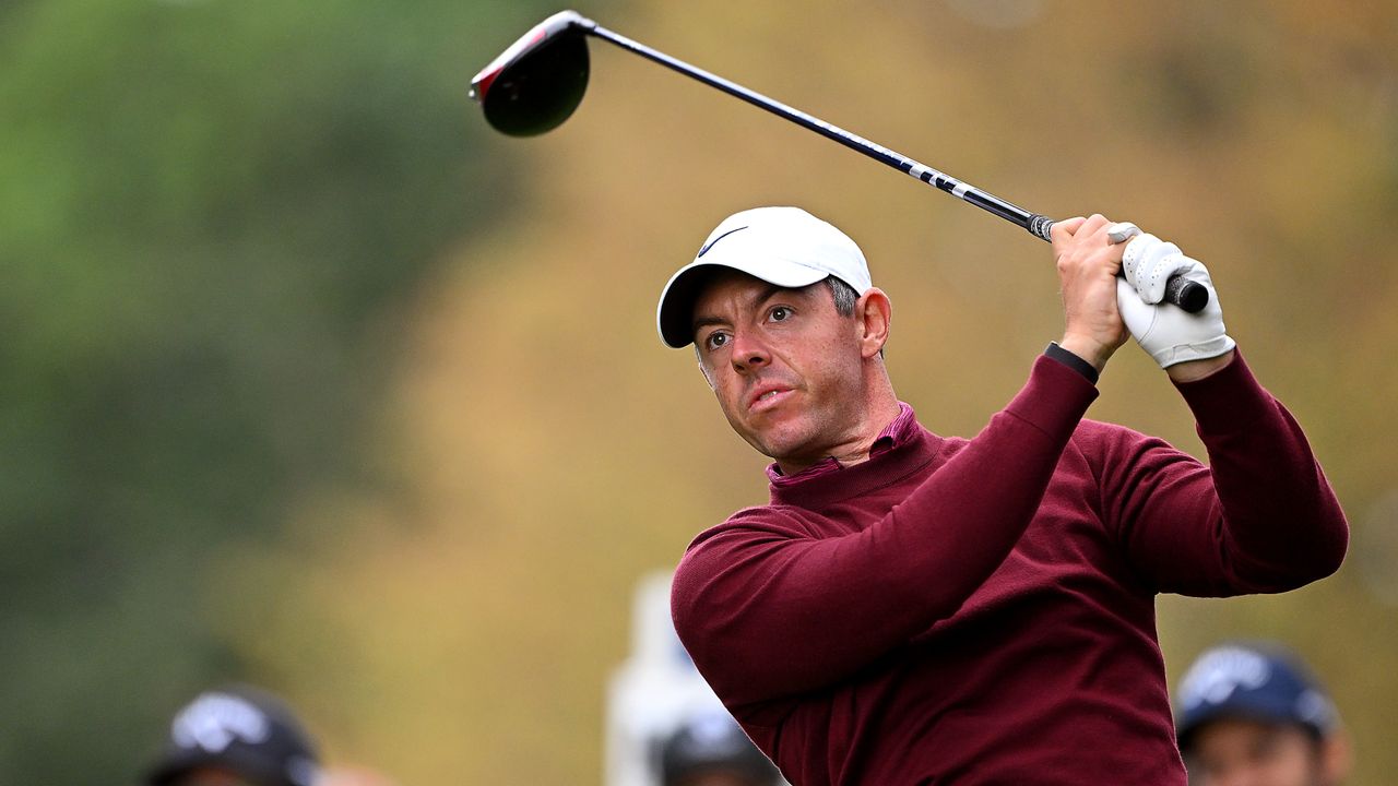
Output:
<instances>
[{"instance_id":1,"label":"maroon sweater sleeve with bent elbow, below the white glove","mask_svg":"<svg viewBox=\"0 0 1398 786\"><path fill-rule=\"evenodd\" d=\"M1103 508L1132 566L1158 592L1275 593L1334 573L1349 526L1290 413L1241 355L1177 386L1209 466L1151 439L1117 441Z\"/></svg>"}]
</instances>

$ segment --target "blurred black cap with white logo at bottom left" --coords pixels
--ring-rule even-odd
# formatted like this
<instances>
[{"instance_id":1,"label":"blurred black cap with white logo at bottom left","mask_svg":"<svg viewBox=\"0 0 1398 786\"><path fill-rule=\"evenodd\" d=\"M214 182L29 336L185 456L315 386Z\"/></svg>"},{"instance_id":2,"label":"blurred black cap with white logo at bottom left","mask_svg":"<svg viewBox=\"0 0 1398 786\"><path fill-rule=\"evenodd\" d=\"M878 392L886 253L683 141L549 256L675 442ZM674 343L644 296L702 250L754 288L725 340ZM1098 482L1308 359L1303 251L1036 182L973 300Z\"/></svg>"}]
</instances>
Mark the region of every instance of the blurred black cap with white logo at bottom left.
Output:
<instances>
[{"instance_id":1,"label":"blurred black cap with white logo at bottom left","mask_svg":"<svg viewBox=\"0 0 1398 786\"><path fill-rule=\"evenodd\" d=\"M178 783L215 766L257 786L310 786L319 772L310 736L281 699L245 685L200 694L175 716L159 762L145 782Z\"/></svg>"}]
</instances>

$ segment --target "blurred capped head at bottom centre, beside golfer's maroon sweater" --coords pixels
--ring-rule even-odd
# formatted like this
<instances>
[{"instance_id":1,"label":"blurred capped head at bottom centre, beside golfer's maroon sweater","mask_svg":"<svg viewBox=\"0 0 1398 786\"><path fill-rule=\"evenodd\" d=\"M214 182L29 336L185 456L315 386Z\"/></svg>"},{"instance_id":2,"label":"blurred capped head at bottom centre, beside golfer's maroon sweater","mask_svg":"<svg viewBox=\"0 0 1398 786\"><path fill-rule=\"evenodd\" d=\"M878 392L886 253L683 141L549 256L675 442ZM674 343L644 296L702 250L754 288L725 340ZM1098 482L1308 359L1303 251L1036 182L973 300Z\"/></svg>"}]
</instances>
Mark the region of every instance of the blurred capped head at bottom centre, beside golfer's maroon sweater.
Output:
<instances>
[{"instance_id":1,"label":"blurred capped head at bottom centre, beside golfer's maroon sweater","mask_svg":"<svg viewBox=\"0 0 1398 786\"><path fill-rule=\"evenodd\" d=\"M772 786L777 768L721 710L686 717L660 750L664 786Z\"/></svg>"}]
</instances>

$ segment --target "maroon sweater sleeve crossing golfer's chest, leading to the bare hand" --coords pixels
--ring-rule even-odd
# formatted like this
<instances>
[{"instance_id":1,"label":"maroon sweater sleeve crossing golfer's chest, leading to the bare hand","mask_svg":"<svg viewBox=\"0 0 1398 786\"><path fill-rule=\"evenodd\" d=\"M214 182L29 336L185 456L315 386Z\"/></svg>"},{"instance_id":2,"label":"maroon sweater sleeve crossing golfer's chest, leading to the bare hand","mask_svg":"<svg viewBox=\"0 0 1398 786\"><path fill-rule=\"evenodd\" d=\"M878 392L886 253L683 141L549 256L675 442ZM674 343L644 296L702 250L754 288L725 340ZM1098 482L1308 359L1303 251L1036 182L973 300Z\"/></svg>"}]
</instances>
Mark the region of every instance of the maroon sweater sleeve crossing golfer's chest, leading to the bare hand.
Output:
<instances>
[{"instance_id":1,"label":"maroon sweater sleeve crossing golfer's chest, leading to the bare hand","mask_svg":"<svg viewBox=\"0 0 1398 786\"><path fill-rule=\"evenodd\" d=\"M949 617L1014 548L1095 397L1039 358L974 439L868 526L829 537L774 506L699 536L671 611L700 673L730 708L819 689Z\"/></svg>"}]
</instances>

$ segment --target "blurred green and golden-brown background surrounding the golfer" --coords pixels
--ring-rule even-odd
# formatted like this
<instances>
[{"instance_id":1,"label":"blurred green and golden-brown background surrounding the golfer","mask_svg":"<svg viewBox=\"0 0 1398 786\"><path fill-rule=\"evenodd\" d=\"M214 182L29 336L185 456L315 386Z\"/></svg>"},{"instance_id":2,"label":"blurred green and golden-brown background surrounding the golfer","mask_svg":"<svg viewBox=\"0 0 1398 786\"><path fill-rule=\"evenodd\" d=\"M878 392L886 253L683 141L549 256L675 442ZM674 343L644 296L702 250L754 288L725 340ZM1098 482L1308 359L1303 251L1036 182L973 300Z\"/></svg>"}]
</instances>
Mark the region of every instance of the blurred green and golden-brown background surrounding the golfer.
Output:
<instances>
[{"instance_id":1,"label":"blurred green and golden-brown background surrounding the golfer","mask_svg":"<svg viewBox=\"0 0 1398 786\"><path fill-rule=\"evenodd\" d=\"M0 783L126 783L211 683L404 785L597 783L636 578L765 499L654 296L801 204L893 298L900 397L974 434L1061 315L1047 246L593 46L493 136L470 77L538 0L0 4ZM1033 210L1202 259L1353 526L1300 592L1160 601L1398 748L1398 7L596 1L603 24ZM956 369L955 375L946 373ZM1092 417L1199 452L1134 348Z\"/></svg>"}]
</instances>

